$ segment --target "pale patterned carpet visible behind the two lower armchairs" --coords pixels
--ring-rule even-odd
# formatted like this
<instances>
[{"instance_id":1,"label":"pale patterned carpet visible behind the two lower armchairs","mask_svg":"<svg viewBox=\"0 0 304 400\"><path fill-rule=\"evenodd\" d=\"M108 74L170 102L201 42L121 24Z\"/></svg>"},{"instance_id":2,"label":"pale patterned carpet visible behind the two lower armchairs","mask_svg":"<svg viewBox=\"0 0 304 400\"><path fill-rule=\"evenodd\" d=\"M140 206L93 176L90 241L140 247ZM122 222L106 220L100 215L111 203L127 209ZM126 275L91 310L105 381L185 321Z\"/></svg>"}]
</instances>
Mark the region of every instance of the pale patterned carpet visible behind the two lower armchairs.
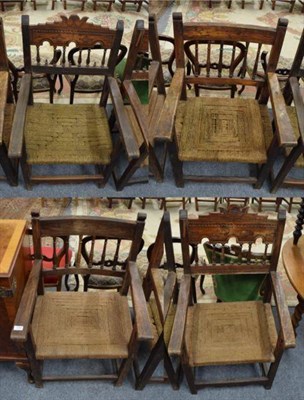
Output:
<instances>
[{"instance_id":1,"label":"pale patterned carpet visible behind the two lower armchairs","mask_svg":"<svg viewBox=\"0 0 304 400\"><path fill-rule=\"evenodd\" d=\"M173 236L179 236L179 209L182 203L176 201L168 205L168 210L171 215L172 234ZM284 204L282 208L284 208ZM186 208L188 215L196 215L194 202L187 203ZM274 211L274 204L265 204L263 206L263 212L266 212L269 216L275 218L276 212ZM32 210L39 211L42 216L52 215L91 215L104 217L115 217L122 219L134 220L139 211L142 211L142 202L140 199L133 201L131 209L128 209L128 200L113 200L112 209L108 208L108 200L105 198L96 199L1 199L0 200L0 218L11 218L11 219L27 219L30 220L30 213ZM157 200L147 199L145 210L147 214L147 220L144 230L144 241L145 246L138 257L138 265L142 275L147 267L146 250L150 244L155 240L158 225L161 220L163 211L160 210L160 203ZM213 205L210 203L203 203L200 206L200 213L207 213L213 211ZM250 206L250 212L257 212L257 205L253 204ZM293 206L292 212L287 213L285 232L284 232L284 243L292 236L294 230L295 219L297 215L297 206ZM174 248L176 252L176 261L181 262L181 250L179 246ZM296 294L291 287L288 278L285 274L282 260L280 259L278 270L282 276L283 286L285 295L290 306L297 304ZM206 294L199 296L199 301L210 302L215 300L213 292L213 284L211 277L207 277L204 282L204 289ZM199 289L198 289L199 293Z\"/></svg>"}]
</instances>

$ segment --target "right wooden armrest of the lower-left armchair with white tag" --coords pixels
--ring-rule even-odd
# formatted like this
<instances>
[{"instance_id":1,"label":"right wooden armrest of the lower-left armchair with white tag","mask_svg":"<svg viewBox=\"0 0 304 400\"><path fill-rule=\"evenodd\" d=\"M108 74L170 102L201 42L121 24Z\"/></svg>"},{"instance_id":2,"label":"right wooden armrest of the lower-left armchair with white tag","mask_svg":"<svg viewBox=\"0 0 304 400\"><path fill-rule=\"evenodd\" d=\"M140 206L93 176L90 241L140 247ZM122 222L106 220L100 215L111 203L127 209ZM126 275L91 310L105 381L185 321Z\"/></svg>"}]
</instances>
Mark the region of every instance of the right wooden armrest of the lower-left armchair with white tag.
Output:
<instances>
[{"instance_id":1,"label":"right wooden armrest of the lower-left armchair with white tag","mask_svg":"<svg viewBox=\"0 0 304 400\"><path fill-rule=\"evenodd\" d=\"M152 326L141 279L136 264L131 261L129 262L129 274L138 340L153 340Z\"/></svg>"}]
</instances>

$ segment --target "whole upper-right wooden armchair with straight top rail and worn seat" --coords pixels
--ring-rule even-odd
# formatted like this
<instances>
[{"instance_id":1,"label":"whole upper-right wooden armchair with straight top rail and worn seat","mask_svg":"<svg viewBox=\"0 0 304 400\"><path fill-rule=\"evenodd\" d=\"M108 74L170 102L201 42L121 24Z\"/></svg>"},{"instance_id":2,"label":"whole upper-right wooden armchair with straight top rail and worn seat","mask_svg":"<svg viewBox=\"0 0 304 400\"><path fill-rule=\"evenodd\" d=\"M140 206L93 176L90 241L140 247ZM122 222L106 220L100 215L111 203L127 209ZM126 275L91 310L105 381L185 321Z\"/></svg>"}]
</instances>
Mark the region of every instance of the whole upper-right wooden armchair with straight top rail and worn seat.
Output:
<instances>
[{"instance_id":1,"label":"whole upper-right wooden armchair with straight top rail and worn seat","mask_svg":"<svg viewBox=\"0 0 304 400\"><path fill-rule=\"evenodd\" d=\"M173 26L176 71L161 113L156 120L155 138L170 141L170 152L173 153L170 154L170 158L176 185L183 186L186 180L191 180L194 182L251 183L256 188L260 188L268 177L280 149L294 143L291 125L286 118L282 98L278 95L277 78L273 74L279 60L287 21L281 19L276 28L264 28L241 24L183 22L182 15L174 13ZM267 64L266 75L260 76L258 68L261 63L263 45L271 47L269 58L271 61ZM201 51L200 46L207 48L207 55ZM227 47L232 49L229 51L229 55L227 53L225 55ZM250 51L253 48L255 50ZM253 63L250 72L247 71L249 53L251 54L250 62ZM186 70L186 56L193 66L190 72ZM212 56L217 56L217 61L213 61ZM214 69L213 72L212 69ZM243 98L235 100L219 98L218 103L216 100L211 100L210 97L188 98L188 85L194 85L197 96L201 94L200 87L234 88L233 91L235 91L237 85L250 86L256 88L255 104L257 107L253 106L253 100ZM276 110L275 125L278 126L273 139L270 115L266 107L269 97L272 108ZM249 108L251 106L256 107L256 111L250 115ZM216 107L218 107L216 116L214 112L211 115L210 110L214 110ZM249 107L248 111L245 111L245 107ZM231 113L231 115L235 113L238 118L251 121L250 124L255 126L259 125L261 127L258 134L260 138L257 140L258 130L251 134L250 129L241 128L240 125L225 130L226 122L224 123L222 120L226 121L226 113ZM192 127L193 119L198 118L196 115L202 115L199 121L199 132ZM210 128L205 122L210 118L214 119L214 122L209 124L213 128ZM236 121L236 117L233 120ZM237 139L230 138L231 140L228 140L232 131L237 132ZM239 156L237 149L233 150L234 140L238 143L236 144L238 149L239 146L242 146L241 142L252 144L250 148L243 151L248 157L251 155L252 159L249 160L247 157L245 160ZM255 140L258 143L265 142L263 148L258 150L254 145ZM211 154L211 149L217 151L214 150L214 154ZM243 176L202 176L191 175L191 173L184 175L183 163L188 161L255 164L257 172L252 176L245 174Z\"/></svg>"}]
</instances>

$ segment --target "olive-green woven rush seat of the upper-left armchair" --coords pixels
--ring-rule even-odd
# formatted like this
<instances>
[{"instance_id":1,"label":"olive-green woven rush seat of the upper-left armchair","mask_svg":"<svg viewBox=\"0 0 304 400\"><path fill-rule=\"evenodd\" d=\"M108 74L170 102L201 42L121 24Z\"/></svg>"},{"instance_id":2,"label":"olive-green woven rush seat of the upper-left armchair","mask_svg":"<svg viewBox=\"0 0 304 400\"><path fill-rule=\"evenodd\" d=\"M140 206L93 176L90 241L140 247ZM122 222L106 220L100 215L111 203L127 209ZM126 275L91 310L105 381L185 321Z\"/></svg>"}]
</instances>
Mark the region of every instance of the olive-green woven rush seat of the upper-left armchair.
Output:
<instances>
[{"instance_id":1,"label":"olive-green woven rush seat of the upper-left armchair","mask_svg":"<svg viewBox=\"0 0 304 400\"><path fill-rule=\"evenodd\" d=\"M106 112L97 104L28 107L25 143L29 164L106 165L113 148Z\"/></svg>"}]
</instances>

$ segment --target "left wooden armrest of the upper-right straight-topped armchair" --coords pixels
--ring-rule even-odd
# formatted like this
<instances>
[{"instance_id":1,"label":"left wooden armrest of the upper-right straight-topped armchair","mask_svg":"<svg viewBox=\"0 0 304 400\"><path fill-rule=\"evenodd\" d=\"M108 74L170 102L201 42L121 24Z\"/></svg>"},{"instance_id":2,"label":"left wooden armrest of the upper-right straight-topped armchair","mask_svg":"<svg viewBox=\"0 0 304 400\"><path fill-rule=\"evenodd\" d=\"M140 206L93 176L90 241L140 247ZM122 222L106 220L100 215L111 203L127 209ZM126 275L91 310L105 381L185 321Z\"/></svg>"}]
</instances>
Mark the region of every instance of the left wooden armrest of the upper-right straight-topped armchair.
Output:
<instances>
[{"instance_id":1,"label":"left wooden armrest of the upper-right straight-topped armchair","mask_svg":"<svg viewBox=\"0 0 304 400\"><path fill-rule=\"evenodd\" d=\"M175 115L182 93L184 77L184 69L177 68L172 78L159 120L157 121L154 140L172 140Z\"/></svg>"}]
</instances>

